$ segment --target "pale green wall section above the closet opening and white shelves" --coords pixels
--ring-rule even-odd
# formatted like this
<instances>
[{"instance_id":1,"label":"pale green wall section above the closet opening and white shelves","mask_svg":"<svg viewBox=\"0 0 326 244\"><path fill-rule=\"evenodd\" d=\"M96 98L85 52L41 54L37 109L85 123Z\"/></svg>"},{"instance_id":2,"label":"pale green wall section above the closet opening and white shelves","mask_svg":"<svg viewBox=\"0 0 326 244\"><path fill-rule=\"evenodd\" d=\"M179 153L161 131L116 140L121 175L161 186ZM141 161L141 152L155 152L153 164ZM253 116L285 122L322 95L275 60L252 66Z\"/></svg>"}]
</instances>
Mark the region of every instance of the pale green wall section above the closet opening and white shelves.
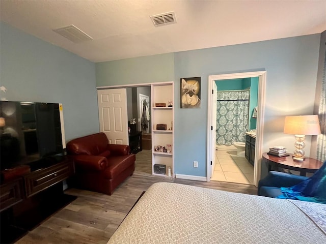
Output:
<instances>
[{"instance_id":1,"label":"pale green wall section above the closet opening and white shelves","mask_svg":"<svg viewBox=\"0 0 326 244\"><path fill-rule=\"evenodd\" d=\"M96 85L142 84L174 80L174 54L127 58L96 64Z\"/></svg>"}]
</instances>

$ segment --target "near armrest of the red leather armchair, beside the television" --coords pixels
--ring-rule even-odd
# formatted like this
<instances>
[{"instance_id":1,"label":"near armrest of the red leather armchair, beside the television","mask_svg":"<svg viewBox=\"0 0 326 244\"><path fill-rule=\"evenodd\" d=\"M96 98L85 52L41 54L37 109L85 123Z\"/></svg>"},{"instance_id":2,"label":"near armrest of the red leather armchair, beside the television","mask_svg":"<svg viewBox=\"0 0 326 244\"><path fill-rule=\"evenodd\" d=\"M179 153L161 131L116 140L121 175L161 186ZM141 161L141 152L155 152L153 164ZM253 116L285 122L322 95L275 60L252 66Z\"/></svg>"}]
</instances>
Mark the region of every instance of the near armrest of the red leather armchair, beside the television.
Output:
<instances>
[{"instance_id":1,"label":"near armrest of the red leather armchair, beside the television","mask_svg":"<svg viewBox=\"0 0 326 244\"><path fill-rule=\"evenodd\" d=\"M107 167L107 159L102 156L92 155L74 155L70 156L73 159L77 169L85 171L100 171Z\"/></svg>"}]
</instances>

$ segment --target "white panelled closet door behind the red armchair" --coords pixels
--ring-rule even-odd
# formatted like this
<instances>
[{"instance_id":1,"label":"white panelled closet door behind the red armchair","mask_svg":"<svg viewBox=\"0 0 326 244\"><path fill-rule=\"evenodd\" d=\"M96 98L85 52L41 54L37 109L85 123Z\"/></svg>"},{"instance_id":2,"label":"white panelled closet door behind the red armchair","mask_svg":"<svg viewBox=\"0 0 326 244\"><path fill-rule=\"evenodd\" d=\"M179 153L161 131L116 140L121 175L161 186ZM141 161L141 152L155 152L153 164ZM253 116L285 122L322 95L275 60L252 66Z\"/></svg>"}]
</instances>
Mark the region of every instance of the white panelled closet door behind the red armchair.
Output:
<instances>
[{"instance_id":1,"label":"white panelled closet door behind the red armchair","mask_svg":"<svg viewBox=\"0 0 326 244\"><path fill-rule=\"evenodd\" d=\"M100 131L109 143L129 145L125 88L97 90Z\"/></svg>"}]
</instances>

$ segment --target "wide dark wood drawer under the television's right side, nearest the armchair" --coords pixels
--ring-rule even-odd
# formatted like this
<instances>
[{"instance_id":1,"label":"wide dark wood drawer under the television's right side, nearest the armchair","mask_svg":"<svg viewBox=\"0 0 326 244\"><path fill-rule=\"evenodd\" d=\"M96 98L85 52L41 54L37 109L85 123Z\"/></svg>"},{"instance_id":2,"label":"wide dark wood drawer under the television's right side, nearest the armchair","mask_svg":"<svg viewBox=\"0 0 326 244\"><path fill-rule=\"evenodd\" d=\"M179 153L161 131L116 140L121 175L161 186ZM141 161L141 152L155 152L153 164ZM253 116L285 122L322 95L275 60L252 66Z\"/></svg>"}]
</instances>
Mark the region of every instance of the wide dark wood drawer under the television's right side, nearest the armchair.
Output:
<instances>
[{"instance_id":1,"label":"wide dark wood drawer under the television's right side, nearest the armchair","mask_svg":"<svg viewBox=\"0 0 326 244\"><path fill-rule=\"evenodd\" d=\"M67 179L73 174L73 163L63 162L51 167L36 170L25 178L26 197L30 197L58 182Z\"/></svg>"}]
</instances>

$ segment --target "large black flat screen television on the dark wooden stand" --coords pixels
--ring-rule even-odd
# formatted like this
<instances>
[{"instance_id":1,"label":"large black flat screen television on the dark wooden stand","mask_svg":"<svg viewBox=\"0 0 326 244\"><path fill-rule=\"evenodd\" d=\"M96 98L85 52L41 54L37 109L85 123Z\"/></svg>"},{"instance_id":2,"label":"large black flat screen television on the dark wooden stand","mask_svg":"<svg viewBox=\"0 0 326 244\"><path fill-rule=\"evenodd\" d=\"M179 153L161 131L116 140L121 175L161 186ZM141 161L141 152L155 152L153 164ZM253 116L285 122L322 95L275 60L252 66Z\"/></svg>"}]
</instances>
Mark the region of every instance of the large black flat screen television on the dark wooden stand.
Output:
<instances>
[{"instance_id":1,"label":"large black flat screen television on the dark wooden stand","mask_svg":"<svg viewBox=\"0 0 326 244\"><path fill-rule=\"evenodd\" d=\"M59 103L0 101L0 168L48 162L63 155Z\"/></svg>"}]
</instances>

